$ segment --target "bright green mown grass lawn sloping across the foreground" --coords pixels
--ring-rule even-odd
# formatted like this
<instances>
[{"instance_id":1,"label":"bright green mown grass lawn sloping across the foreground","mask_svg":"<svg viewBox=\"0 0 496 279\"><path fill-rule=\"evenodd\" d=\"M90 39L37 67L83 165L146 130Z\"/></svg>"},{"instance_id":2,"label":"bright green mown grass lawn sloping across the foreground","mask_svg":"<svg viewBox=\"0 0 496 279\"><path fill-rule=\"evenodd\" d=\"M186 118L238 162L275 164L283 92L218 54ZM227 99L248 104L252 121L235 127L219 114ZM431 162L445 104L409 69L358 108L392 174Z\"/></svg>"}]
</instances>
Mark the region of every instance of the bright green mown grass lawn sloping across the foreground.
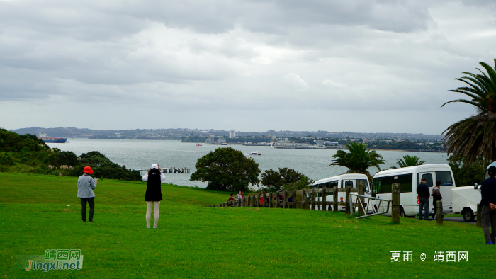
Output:
<instances>
[{"instance_id":1,"label":"bright green mown grass lawn sloping across the foreground","mask_svg":"<svg viewBox=\"0 0 496 279\"><path fill-rule=\"evenodd\" d=\"M101 180L94 223L81 222L77 178L0 173L0 278L481 278L495 246L473 224L251 207L162 187L158 229L146 229L145 184ZM67 206L69 205L69 207ZM23 271L19 255L81 249L79 271ZM390 261L412 251L412 262ZM434 251L468 251L468 262L436 262ZM420 254L427 254L426 261Z\"/></svg>"}]
</instances>

